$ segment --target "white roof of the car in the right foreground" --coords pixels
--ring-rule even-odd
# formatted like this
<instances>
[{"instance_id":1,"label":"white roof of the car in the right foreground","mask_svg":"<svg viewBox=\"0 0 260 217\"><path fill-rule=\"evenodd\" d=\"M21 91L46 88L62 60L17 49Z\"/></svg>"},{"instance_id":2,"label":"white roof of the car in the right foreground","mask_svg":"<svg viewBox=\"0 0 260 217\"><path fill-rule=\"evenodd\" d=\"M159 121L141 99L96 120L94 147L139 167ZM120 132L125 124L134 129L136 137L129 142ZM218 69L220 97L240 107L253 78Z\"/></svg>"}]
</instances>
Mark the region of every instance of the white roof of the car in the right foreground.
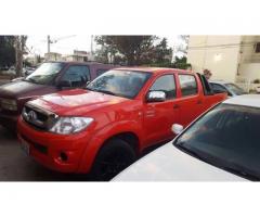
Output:
<instances>
[{"instance_id":1,"label":"white roof of the car in the right foreground","mask_svg":"<svg viewBox=\"0 0 260 217\"><path fill-rule=\"evenodd\" d=\"M225 104L260 107L260 94L243 94L225 100Z\"/></svg>"}]
</instances>

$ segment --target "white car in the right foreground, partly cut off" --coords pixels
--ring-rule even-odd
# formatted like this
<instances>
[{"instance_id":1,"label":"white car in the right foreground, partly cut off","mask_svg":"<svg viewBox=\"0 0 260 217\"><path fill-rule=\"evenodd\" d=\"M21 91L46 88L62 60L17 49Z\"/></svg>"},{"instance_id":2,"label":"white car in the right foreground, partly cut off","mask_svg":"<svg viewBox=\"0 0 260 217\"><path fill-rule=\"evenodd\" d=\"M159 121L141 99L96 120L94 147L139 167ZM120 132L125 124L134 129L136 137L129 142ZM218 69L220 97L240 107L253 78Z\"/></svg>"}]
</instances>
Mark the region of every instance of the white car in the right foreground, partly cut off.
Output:
<instances>
[{"instance_id":1,"label":"white car in the right foreground, partly cut off","mask_svg":"<svg viewBox=\"0 0 260 217\"><path fill-rule=\"evenodd\" d=\"M260 95L230 98L114 181L260 180Z\"/></svg>"}]
</instances>

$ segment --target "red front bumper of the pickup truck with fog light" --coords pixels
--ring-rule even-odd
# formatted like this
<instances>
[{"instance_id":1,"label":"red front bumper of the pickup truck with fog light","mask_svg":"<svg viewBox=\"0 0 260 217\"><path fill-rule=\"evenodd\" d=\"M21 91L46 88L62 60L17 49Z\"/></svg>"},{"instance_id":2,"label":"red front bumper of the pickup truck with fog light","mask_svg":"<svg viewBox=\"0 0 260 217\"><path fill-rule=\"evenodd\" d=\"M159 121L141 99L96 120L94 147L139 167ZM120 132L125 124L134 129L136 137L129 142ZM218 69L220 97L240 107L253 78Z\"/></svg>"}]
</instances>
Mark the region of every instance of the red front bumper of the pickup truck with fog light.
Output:
<instances>
[{"instance_id":1,"label":"red front bumper of the pickup truck with fog light","mask_svg":"<svg viewBox=\"0 0 260 217\"><path fill-rule=\"evenodd\" d=\"M77 135L54 135L34 129L22 118L18 119L17 136L20 141L29 144L29 155L41 165L62 173L79 173L79 164L89 135L82 131Z\"/></svg>"}]
</instances>

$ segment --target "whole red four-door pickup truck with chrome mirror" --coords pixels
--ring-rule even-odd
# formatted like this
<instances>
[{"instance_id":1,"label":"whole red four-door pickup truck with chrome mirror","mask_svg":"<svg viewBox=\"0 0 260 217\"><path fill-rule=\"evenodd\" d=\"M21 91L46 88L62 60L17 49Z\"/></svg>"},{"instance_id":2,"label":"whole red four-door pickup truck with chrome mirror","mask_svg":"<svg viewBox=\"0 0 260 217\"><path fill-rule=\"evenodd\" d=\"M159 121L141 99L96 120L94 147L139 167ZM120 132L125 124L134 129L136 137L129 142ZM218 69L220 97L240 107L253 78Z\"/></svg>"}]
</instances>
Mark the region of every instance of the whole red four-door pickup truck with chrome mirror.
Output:
<instances>
[{"instance_id":1,"label":"whole red four-door pickup truck with chrome mirror","mask_svg":"<svg viewBox=\"0 0 260 217\"><path fill-rule=\"evenodd\" d=\"M63 173L107 180L151 145L174 137L171 125L190 124L223 101L204 76L172 68L117 68L86 89L27 102L18 119L22 148Z\"/></svg>"}]
</instances>

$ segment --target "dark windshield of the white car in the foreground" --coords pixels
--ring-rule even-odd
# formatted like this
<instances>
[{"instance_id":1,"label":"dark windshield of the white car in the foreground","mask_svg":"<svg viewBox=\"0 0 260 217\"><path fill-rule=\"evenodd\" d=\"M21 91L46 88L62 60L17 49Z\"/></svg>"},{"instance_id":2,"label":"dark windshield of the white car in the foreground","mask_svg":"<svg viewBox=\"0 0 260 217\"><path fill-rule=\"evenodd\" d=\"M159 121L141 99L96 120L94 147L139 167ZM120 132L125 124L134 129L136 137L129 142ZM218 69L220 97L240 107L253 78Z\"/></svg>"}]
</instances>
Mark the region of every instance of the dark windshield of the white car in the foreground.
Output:
<instances>
[{"instance_id":1,"label":"dark windshield of the white car in the foreground","mask_svg":"<svg viewBox=\"0 0 260 217\"><path fill-rule=\"evenodd\" d=\"M250 180L260 180L260 108L220 104L174 142L191 155Z\"/></svg>"}]
</instances>

